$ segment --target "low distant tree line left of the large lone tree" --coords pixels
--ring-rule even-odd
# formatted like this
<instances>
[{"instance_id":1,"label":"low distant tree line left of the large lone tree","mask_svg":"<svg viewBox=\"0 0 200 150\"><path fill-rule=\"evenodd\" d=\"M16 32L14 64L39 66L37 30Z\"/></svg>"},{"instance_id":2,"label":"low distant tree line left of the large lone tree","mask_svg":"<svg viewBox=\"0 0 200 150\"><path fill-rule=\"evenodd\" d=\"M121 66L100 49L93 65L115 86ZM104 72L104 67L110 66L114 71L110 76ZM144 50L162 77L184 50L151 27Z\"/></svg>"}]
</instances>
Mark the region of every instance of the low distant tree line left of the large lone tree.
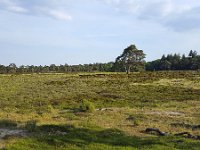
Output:
<instances>
[{"instance_id":1,"label":"low distant tree line left of the large lone tree","mask_svg":"<svg viewBox=\"0 0 200 150\"><path fill-rule=\"evenodd\" d=\"M75 72L112 72L113 62L94 63L84 65L55 65L49 66L19 66L11 63L8 66L0 65L0 74L26 74L26 73L75 73Z\"/></svg>"}]
</instances>

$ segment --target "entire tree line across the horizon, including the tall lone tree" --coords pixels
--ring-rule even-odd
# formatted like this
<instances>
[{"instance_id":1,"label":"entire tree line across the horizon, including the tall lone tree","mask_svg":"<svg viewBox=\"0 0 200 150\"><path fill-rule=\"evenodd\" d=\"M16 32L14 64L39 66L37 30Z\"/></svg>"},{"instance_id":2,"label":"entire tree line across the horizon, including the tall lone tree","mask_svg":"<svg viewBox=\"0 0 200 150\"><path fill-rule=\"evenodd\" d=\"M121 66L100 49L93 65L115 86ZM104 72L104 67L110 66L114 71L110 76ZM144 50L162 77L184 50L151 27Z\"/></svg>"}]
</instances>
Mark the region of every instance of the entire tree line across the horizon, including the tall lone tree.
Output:
<instances>
[{"instance_id":1,"label":"entire tree line across the horizon, including the tall lone tree","mask_svg":"<svg viewBox=\"0 0 200 150\"><path fill-rule=\"evenodd\" d=\"M183 54L163 55L160 59L145 62L145 54L138 50L135 45L124 49L115 62L93 63L79 65L55 65L16 66L11 63L8 66L0 65L0 74L26 74L26 73L75 73L75 72L127 72L131 71L159 71L159 70L199 70L200 55L191 50L188 56Z\"/></svg>"}]
</instances>

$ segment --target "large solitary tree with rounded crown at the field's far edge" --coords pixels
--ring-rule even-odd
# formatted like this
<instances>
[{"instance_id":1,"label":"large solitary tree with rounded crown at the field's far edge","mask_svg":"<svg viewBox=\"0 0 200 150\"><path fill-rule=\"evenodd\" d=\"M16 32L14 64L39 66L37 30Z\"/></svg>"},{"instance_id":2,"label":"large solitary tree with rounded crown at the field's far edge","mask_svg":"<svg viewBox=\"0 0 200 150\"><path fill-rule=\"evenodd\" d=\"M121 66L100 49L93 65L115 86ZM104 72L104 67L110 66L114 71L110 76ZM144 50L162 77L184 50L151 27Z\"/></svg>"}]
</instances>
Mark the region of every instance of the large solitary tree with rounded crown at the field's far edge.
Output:
<instances>
[{"instance_id":1,"label":"large solitary tree with rounded crown at the field's far edge","mask_svg":"<svg viewBox=\"0 0 200 150\"><path fill-rule=\"evenodd\" d=\"M135 45L130 45L116 58L116 63L122 64L125 67L126 73L129 74L131 67L144 65L144 58L145 54L142 50L138 50Z\"/></svg>"}]
</instances>

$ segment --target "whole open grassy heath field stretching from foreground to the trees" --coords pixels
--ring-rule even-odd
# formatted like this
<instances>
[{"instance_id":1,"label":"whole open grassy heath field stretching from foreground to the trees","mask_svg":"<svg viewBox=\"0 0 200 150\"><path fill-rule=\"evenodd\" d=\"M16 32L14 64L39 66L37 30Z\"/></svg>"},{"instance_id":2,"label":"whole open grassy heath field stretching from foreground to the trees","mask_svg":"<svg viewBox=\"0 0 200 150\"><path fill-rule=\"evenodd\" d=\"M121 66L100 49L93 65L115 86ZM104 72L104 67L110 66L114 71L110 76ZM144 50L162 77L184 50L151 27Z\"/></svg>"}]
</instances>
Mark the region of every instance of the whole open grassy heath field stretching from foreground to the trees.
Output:
<instances>
[{"instance_id":1,"label":"whole open grassy heath field stretching from foreground to the trees","mask_svg":"<svg viewBox=\"0 0 200 150\"><path fill-rule=\"evenodd\" d=\"M200 136L199 72L0 75L0 109L2 149L200 149L174 136Z\"/></svg>"}]
</instances>

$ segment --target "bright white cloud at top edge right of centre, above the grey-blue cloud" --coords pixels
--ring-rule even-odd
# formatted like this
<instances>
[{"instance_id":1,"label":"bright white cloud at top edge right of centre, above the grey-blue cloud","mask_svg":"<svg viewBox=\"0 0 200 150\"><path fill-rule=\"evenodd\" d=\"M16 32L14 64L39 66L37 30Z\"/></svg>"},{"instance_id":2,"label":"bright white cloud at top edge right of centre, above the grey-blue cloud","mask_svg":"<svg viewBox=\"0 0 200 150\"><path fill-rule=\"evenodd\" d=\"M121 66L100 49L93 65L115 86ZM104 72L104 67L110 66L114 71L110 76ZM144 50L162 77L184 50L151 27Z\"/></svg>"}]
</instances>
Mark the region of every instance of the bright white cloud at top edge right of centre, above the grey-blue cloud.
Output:
<instances>
[{"instance_id":1,"label":"bright white cloud at top edge right of centre, above the grey-blue cloud","mask_svg":"<svg viewBox=\"0 0 200 150\"><path fill-rule=\"evenodd\" d=\"M186 3L184 0L104 0L104 2L113 5L121 12L132 13L136 16L155 16L156 18L172 13L182 13L196 6L193 2L186 1Z\"/></svg>"}]
</instances>

